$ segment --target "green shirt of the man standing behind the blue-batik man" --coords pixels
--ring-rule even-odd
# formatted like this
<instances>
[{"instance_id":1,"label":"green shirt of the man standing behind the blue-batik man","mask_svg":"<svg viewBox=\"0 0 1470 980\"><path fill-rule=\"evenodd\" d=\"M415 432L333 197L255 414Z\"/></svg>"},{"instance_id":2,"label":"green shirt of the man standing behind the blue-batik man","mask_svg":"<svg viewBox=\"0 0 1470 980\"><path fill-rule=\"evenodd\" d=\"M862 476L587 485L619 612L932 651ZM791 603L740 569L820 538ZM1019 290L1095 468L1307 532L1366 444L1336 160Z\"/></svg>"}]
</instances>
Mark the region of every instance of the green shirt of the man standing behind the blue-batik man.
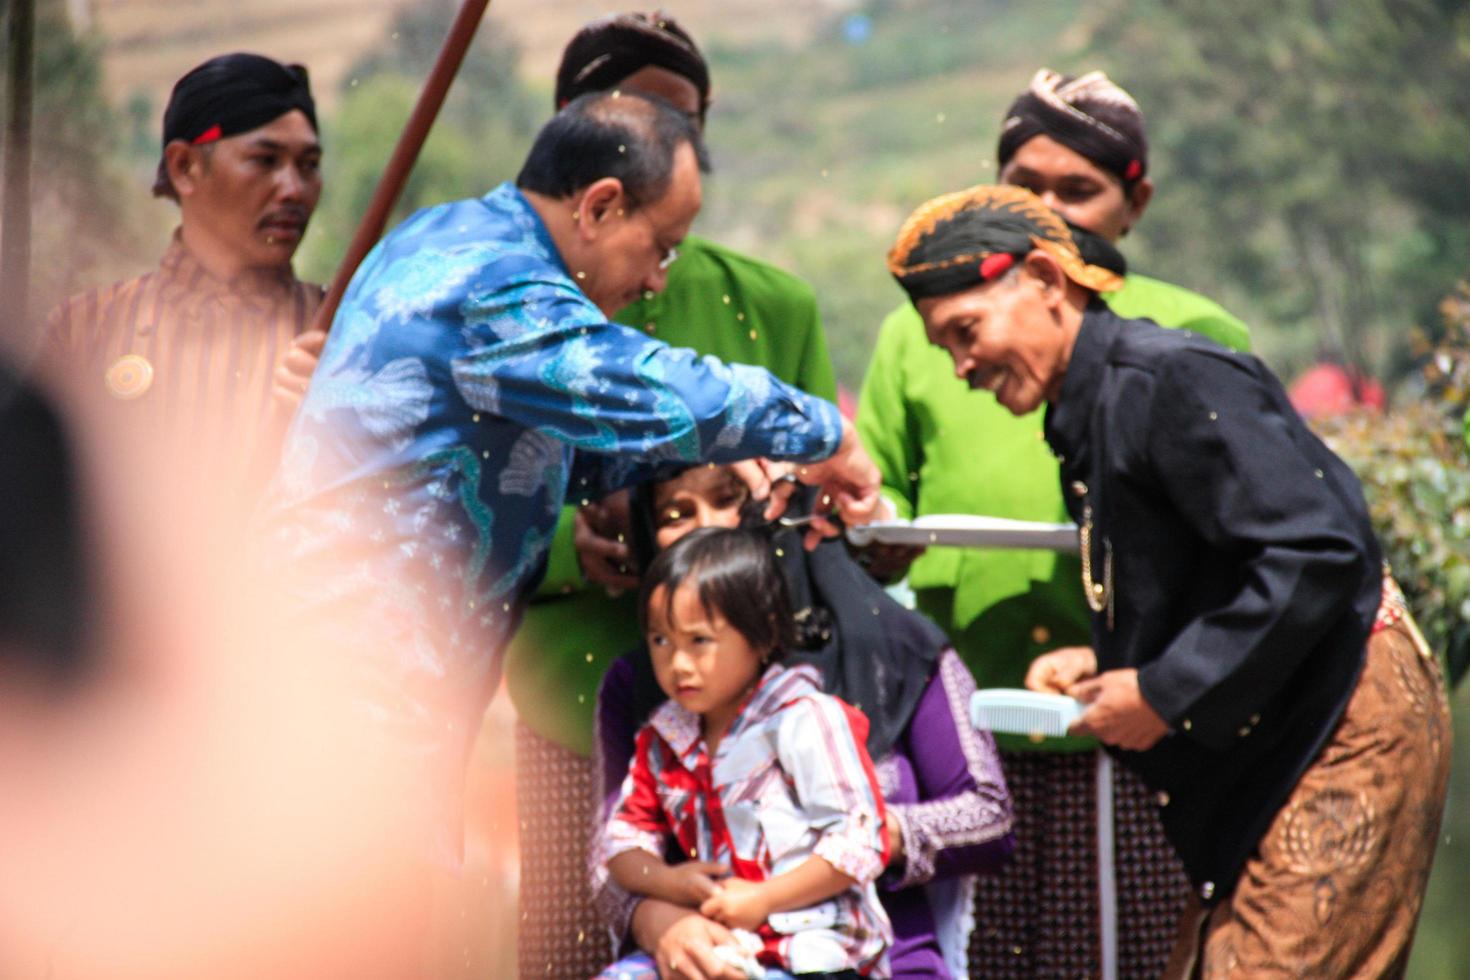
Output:
<instances>
[{"instance_id":1,"label":"green shirt of the man standing behind the blue-batik man","mask_svg":"<svg viewBox=\"0 0 1470 980\"><path fill-rule=\"evenodd\" d=\"M723 361L757 364L822 398L836 379L801 279L701 238L686 238L663 292L616 317L675 347ZM632 595L609 597L582 579L569 505L562 513L547 576L506 654L506 685L520 720L578 754L591 752L592 708L603 673L638 644Z\"/></svg>"}]
</instances>

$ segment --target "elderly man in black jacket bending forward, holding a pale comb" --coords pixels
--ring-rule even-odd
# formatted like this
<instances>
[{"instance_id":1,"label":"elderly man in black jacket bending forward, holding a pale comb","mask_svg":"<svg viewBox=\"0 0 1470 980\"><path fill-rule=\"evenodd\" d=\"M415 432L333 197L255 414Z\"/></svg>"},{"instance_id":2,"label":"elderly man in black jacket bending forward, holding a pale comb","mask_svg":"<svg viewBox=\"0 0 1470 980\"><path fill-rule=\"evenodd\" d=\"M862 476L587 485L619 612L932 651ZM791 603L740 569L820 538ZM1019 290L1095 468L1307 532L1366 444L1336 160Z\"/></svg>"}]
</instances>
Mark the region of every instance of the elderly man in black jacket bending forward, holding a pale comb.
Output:
<instances>
[{"instance_id":1,"label":"elderly man in black jacket bending forward, holding a pale comb","mask_svg":"<svg viewBox=\"0 0 1470 980\"><path fill-rule=\"evenodd\" d=\"M960 378L1048 404L1092 646L1026 683L1157 792L1195 889L1169 976L1401 974L1448 705L1357 479L1258 360L1110 313L1028 191L925 204L889 269Z\"/></svg>"}]
</instances>

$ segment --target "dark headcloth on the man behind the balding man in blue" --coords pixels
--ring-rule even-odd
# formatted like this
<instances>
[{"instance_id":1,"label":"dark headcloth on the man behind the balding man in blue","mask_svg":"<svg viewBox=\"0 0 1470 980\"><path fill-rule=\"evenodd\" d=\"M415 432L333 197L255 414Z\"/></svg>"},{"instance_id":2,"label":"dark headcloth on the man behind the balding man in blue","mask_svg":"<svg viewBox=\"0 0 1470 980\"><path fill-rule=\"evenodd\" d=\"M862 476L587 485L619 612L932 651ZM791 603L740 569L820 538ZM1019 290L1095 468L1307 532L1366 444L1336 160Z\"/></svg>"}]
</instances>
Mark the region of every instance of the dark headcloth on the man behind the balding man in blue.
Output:
<instances>
[{"instance_id":1,"label":"dark headcloth on the man behind the balding man in blue","mask_svg":"<svg viewBox=\"0 0 1470 980\"><path fill-rule=\"evenodd\" d=\"M700 93L700 122L710 104L710 66L694 38L663 10L592 21L567 43L556 72L556 107L617 85L642 68L663 68Z\"/></svg>"}]
</instances>

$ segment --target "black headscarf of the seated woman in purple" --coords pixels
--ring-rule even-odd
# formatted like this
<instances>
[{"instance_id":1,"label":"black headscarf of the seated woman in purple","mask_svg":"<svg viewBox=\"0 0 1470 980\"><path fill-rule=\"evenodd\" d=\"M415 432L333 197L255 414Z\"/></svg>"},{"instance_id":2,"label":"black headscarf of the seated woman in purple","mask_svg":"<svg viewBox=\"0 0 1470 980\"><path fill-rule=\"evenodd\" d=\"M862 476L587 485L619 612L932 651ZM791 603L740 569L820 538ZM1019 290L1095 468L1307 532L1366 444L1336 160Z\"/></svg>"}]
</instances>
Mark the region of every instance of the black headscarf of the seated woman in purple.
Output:
<instances>
[{"instance_id":1,"label":"black headscarf of the seated woman in purple","mask_svg":"<svg viewBox=\"0 0 1470 980\"><path fill-rule=\"evenodd\" d=\"M798 497L788 507L791 516L810 513L814 491ZM764 523L761 510L759 502L747 507L742 523ZM657 550L650 483L634 491L632 525L634 555L647 566ZM801 532L786 529L772 530L770 544L786 574L800 635L800 649L786 651L784 661L817 667L823 691L863 711L867 752L882 758L908 726L948 638L888 595L841 541L807 551ZM666 699L641 648L634 658L634 717L642 721Z\"/></svg>"}]
</instances>

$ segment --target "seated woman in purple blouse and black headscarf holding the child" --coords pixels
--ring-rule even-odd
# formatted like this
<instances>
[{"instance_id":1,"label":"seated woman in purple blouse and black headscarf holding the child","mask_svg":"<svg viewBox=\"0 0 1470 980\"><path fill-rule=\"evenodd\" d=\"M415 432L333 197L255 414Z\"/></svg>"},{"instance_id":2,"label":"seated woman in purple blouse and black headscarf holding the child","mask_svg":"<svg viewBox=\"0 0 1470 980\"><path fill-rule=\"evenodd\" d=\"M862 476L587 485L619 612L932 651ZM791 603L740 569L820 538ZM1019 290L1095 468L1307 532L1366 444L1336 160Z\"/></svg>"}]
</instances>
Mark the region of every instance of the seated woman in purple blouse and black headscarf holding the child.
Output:
<instances>
[{"instance_id":1,"label":"seated woman in purple blouse and black headscarf holding the child","mask_svg":"<svg viewBox=\"0 0 1470 980\"><path fill-rule=\"evenodd\" d=\"M647 558L695 527L754 522L759 508L728 469L689 469L639 488L634 552ZM892 976L964 977L973 876L998 868L1014 846L995 743L969 723L975 680L944 633L883 592L841 542L808 552L798 532L781 530L772 545L807 641L789 660L819 667L825 689L863 710L870 723L867 748L892 846L879 880L894 924ZM662 701L645 649L609 670L598 693L595 746L604 817L628 773L634 736ZM639 902L616 886L597 892L595 901L614 946L641 945L664 976L739 976L709 958L720 927L697 912Z\"/></svg>"}]
</instances>

